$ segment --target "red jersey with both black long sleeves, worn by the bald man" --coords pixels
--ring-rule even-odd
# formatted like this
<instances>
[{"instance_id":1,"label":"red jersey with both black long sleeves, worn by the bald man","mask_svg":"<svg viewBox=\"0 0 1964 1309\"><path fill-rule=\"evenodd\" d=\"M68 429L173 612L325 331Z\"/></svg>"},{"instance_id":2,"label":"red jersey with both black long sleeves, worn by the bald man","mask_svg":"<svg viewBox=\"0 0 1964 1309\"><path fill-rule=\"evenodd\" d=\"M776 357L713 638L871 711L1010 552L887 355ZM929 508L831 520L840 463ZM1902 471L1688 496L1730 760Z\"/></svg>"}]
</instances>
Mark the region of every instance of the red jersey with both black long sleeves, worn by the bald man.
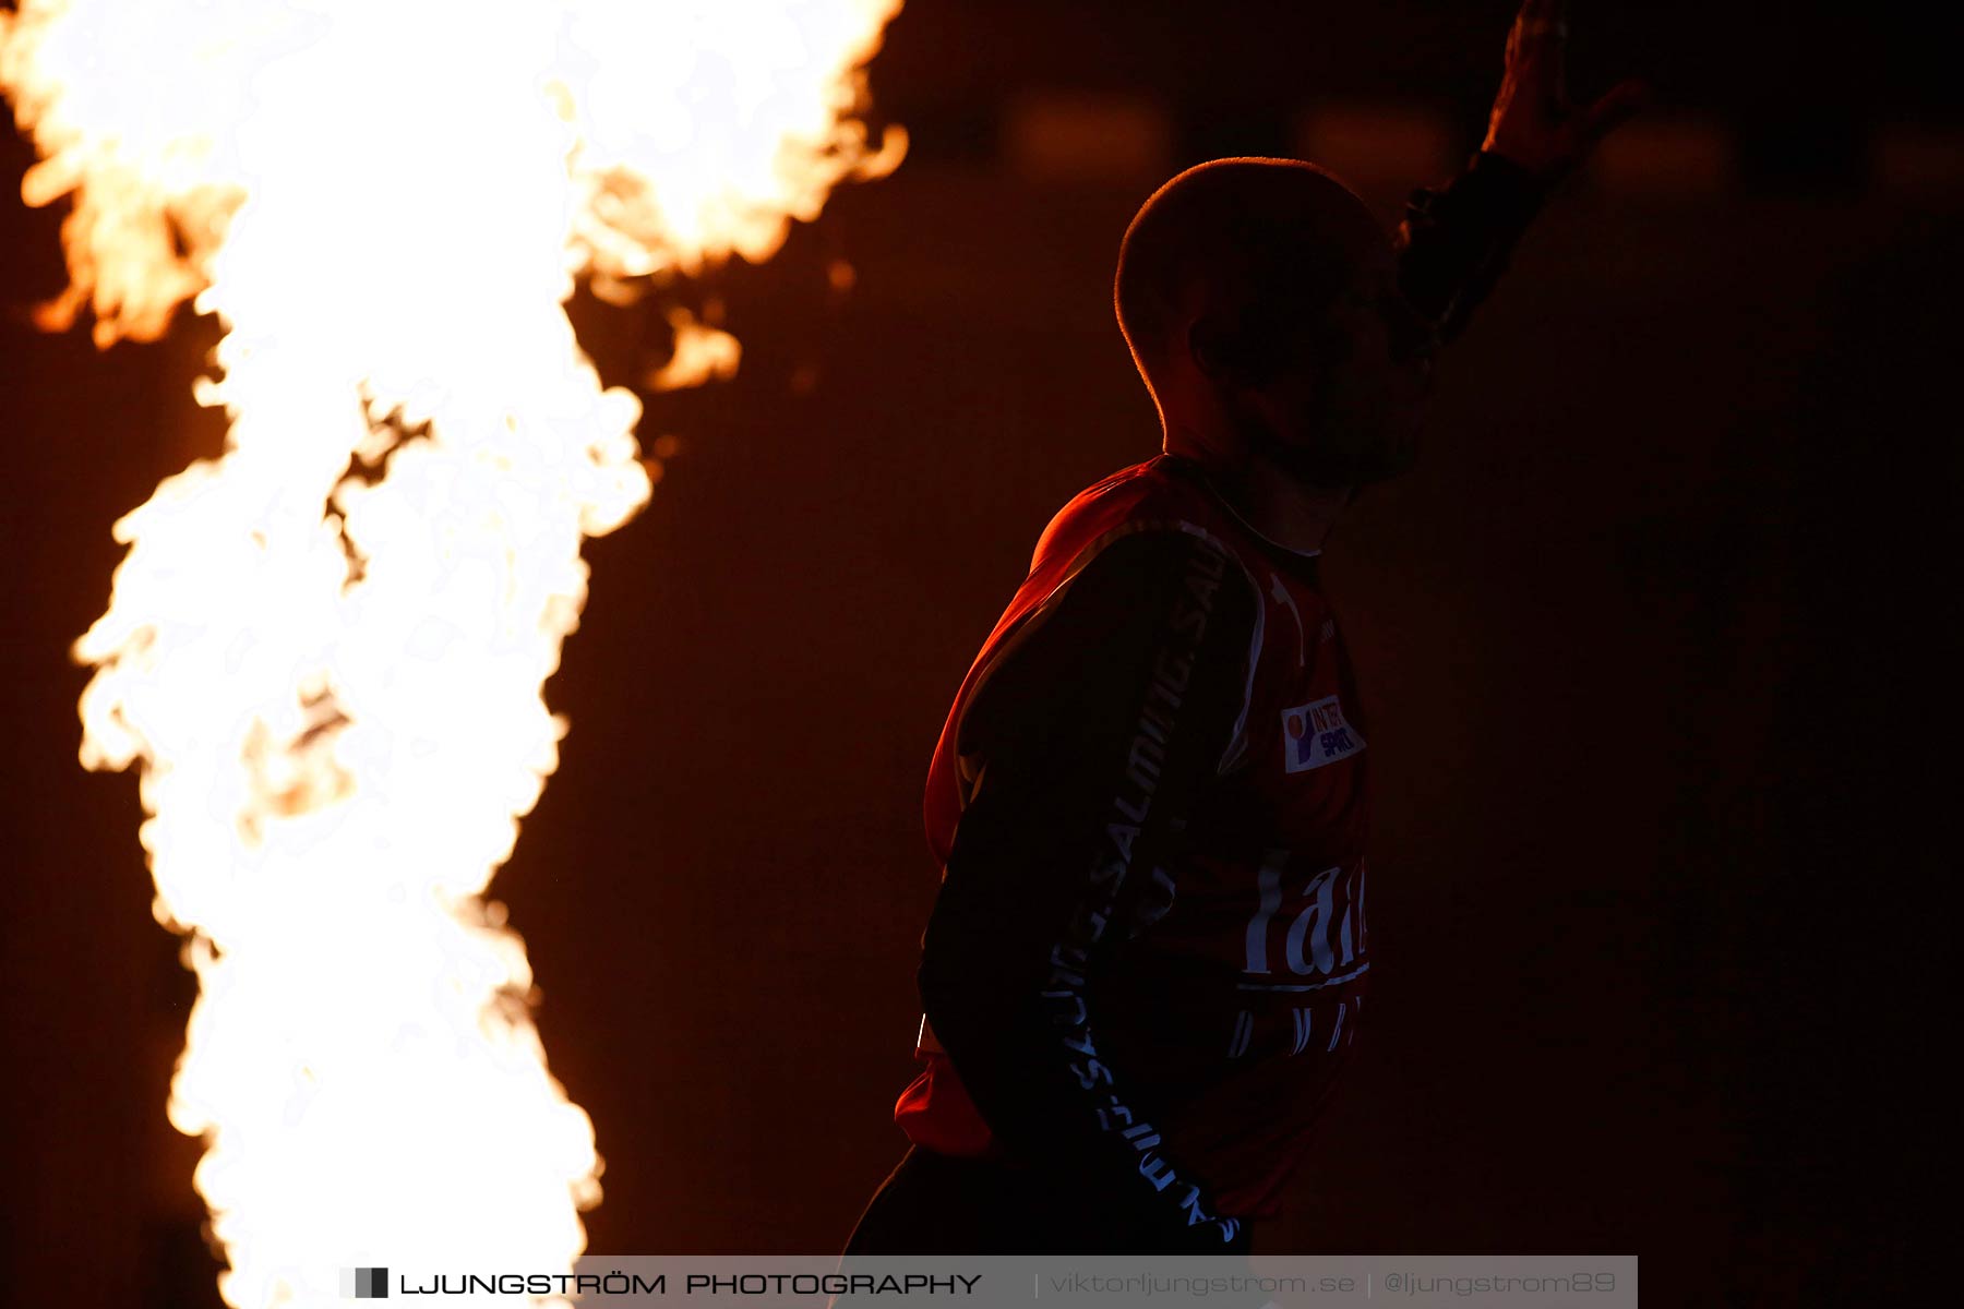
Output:
<instances>
[{"instance_id":1,"label":"red jersey with both black long sleeves, worn by the bald man","mask_svg":"<svg viewBox=\"0 0 1964 1309\"><path fill-rule=\"evenodd\" d=\"M1416 192L1400 287L1449 338L1540 186ZM1161 455L1072 498L927 781L921 1148L990 1154L1137 1250L1275 1213L1361 1030L1369 730L1318 557Z\"/></svg>"}]
</instances>

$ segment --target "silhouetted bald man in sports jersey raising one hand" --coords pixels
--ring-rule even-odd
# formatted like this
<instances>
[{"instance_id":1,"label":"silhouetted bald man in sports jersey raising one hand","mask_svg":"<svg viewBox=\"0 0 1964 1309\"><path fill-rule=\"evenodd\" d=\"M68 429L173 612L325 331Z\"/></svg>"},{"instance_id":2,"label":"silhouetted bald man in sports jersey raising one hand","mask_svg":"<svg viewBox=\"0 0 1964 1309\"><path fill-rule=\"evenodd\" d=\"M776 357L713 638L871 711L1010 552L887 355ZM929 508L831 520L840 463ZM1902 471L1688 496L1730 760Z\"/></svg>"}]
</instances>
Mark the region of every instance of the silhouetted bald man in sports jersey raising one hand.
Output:
<instances>
[{"instance_id":1,"label":"silhouetted bald man in sports jersey raising one hand","mask_svg":"<svg viewBox=\"0 0 1964 1309\"><path fill-rule=\"evenodd\" d=\"M1483 149L1387 237L1308 163L1145 202L1118 320L1165 453L1066 504L927 783L913 1146L846 1254L1239 1252L1367 1013L1369 728L1318 585L1404 471L1434 349L1642 90L1528 0Z\"/></svg>"}]
</instances>

